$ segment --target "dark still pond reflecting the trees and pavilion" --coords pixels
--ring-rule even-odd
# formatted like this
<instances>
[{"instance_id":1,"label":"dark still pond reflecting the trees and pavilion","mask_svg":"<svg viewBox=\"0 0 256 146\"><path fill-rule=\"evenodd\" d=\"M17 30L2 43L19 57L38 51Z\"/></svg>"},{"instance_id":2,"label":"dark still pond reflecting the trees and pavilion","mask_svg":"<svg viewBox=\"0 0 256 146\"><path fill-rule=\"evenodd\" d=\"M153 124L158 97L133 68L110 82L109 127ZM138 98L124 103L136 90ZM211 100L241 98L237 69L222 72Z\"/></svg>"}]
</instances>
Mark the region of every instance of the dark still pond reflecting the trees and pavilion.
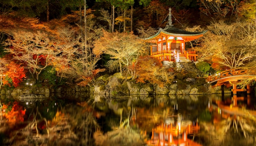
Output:
<instances>
[{"instance_id":1,"label":"dark still pond reflecting the trees and pavilion","mask_svg":"<svg viewBox=\"0 0 256 146\"><path fill-rule=\"evenodd\" d=\"M1 98L1 146L254 146L254 95Z\"/></svg>"}]
</instances>

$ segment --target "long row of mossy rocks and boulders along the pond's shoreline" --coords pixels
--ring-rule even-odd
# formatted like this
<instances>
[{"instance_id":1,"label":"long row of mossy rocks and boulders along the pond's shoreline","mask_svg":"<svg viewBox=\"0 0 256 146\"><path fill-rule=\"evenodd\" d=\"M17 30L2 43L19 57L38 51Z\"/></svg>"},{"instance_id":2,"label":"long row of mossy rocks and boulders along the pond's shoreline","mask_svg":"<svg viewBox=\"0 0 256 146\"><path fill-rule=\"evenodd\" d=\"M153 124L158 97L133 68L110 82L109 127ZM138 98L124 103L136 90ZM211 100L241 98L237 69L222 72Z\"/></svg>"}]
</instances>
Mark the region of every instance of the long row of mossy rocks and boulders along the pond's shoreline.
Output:
<instances>
[{"instance_id":1,"label":"long row of mossy rocks and boulders along the pond's shoreline","mask_svg":"<svg viewBox=\"0 0 256 146\"><path fill-rule=\"evenodd\" d=\"M28 95L39 95L42 94L44 97L49 97L49 93L76 93L76 92L88 92L94 94L104 94L115 96L125 96L125 95L200 95L200 94L215 94L221 93L221 87L211 88L210 84L203 84L201 86L195 86L187 84L186 87L178 88L176 83L165 84L164 86L153 85L153 84L143 84L135 83L132 81L123 82L121 76L104 75L103 77L98 77L96 79L96 84L90 84L87 86L19 86L13 90L1 88L0 94L28 94ZM192 80L192 79L190 79ZM203 91L200 91L200 89ZM225 93L231 93L231 89L227 88Z\"/></svg>"}]
</instances>

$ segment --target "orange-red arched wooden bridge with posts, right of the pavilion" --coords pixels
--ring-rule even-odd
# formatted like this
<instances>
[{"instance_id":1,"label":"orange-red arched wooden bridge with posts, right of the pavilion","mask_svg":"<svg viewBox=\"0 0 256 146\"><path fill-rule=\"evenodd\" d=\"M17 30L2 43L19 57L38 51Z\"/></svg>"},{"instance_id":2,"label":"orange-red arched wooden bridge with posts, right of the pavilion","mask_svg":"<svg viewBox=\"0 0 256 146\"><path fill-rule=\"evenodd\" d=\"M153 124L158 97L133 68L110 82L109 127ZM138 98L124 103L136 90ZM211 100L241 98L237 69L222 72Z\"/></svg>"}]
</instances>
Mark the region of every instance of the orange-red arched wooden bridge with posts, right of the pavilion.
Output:
<instances>
[{"instance_id":1,"label":"orange-red arched wooden bridge with posts, right of the pavilion","mask_svg":"<svg viewBox=\"0 0 256 146\"><path fill-rule=\"evenodd\" d=\"M247 84L246 89L239 89L239 88L236 88L236 82L240 80L247 80L255 76L256 75L248 75L246 70L230 69L227 71L222 71L216 75L209 76L207 78L207 81L209 84L212 85L212 87L222 86L222 85L227 87L233 86L233 89L232 89L233 94L236 94L236 92L238 91L247 91L247 93L250 93L249 84Z\"/></svg>"}]
</instances>

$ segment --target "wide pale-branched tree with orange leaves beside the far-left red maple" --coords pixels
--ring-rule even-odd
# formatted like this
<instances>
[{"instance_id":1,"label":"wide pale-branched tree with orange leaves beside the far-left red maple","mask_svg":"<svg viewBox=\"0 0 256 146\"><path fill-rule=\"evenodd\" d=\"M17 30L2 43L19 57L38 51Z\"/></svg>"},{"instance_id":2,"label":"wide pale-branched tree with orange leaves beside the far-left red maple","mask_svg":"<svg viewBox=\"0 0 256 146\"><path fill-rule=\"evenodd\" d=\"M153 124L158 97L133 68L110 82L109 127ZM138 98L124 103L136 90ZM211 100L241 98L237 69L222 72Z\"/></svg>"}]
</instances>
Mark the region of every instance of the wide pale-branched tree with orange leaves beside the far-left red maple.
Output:
<instances>
[{"instance_id":1,"label":"wide pale-branched tree with orange leaves beside the far-left red maple","mask_svg":"<svg viewBox=\"0 0 256 146\"><path fill-rule=\"evenodd\" d=\"M49 35L41 32L32 33L29 31L13 31L5 43L7 52L14 60L23 63L36 80L39 74L45 69L50 61L60 53L54 48Z\"/></svg>"}]
</instances>

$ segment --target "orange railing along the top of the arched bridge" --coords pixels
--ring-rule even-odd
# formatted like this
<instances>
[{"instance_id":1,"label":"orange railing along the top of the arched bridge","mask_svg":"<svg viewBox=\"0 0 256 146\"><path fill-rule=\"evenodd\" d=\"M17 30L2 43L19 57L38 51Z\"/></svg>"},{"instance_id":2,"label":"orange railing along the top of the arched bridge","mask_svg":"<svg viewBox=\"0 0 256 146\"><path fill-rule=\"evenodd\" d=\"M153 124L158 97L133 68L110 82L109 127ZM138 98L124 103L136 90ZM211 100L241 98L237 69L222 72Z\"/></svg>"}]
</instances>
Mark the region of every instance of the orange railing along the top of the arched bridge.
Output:
<instances>
[{"instance_id":1,"label":"orange railing along the top of the arched bridge","mask_svg":"<svg viewBox=\"0 0 256 146\"><path fill-rule=\"evenodd\" d=\"M247 71L246 70L240 70L240 69L229 69L229 70L226 70L226 71L222 71L220 73L217 73L215 75L210 75L208 77L208 82L211 82L211 81L214 81L214 80L218 80L218 79L221 79L223 77L229 77L229 76L232 76L232 75L244 75L246 74Z\"/></svg>"}]
</instances>

